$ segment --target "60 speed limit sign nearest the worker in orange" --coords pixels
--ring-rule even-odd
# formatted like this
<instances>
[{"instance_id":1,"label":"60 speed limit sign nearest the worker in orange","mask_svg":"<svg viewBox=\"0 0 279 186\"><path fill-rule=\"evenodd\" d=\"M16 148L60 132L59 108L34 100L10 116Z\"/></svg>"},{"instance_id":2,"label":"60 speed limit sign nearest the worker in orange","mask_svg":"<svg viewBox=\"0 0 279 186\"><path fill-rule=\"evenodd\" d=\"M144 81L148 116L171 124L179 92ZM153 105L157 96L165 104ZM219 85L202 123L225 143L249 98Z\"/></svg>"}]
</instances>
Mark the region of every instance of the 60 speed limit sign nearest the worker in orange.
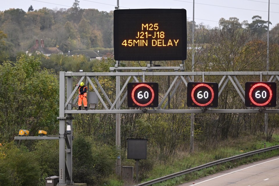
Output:
<instances>
[{"instance_id":1,"label":"60 speed limit sign nearest the worker in orange","mask_svg":"<svg viewBox=\"0 0 279 186\"><path fill-rule=\"evenodd\" d=\"M158 107L158 83L128 83L128 107Z\"/></svg>"}]
</instances>

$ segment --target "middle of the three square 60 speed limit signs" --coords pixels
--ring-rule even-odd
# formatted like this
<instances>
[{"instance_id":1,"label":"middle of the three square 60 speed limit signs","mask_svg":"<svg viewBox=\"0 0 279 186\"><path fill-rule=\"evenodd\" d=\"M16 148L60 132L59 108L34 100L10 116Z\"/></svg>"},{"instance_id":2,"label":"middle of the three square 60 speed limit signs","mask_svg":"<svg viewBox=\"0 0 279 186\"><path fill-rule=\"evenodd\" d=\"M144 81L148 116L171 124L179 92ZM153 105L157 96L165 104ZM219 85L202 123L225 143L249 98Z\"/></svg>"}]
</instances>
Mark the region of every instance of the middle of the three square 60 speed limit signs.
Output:
<instances>
[{"instance_id":1,"label":"middle of the three square 60 speed limit signs","mask_svg":"<svg viewBox=\"0 0 279 186\"><path fill-rule=\"evenodd\" d=\"M217 107L218 83L189 82L187 84L188 107Z\"/></svg>"}]
</instances>

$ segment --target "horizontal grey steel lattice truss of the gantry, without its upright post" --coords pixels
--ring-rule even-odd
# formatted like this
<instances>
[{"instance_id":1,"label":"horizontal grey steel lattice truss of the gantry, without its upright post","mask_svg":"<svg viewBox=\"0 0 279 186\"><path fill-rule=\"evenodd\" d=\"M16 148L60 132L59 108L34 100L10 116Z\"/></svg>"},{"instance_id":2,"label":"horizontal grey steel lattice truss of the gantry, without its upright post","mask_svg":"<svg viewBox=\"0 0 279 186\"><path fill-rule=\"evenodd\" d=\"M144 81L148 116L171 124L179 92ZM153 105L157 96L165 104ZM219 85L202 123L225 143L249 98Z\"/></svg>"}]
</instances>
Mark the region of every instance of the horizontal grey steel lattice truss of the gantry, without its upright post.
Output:
<instances>
[{"instance_id":1,"label":"horizontal grey steel lattice truss of the gantry, without its upright post","mask_svg":"<svg viewBox=\"0 0 279 186\"><path fill-rule=\"evenodd\" d=\"M145 70L146 68L144 68ZM176 70L176 69L175 69ZM67 92L67 100L64 100L63 106L60 106L64 114L78 114L78 113L103 113L103 114L122 114L122 113L259 113L258 108L247 107L246 109L166 109L168 95L170 94L170 99L172 99L174 93L176 92L180 84L184 84L187 87L187 83L191 82L190 76L202 76L203 81L206 76L221 76L221 81L217 82L219 84L219 95L222 93L223 89L227 86L228 82L231 82L237 91L239 97L242 99L243 103L245 102L245 91L242 85L239 83L237 76L258 76L258 79L255 81L260 82L262 76L268 77L268 82L276 82L279 79L279 72L153 72L153 71L144 71L144 72L60 72L60 75L63 75L63 78L72 78L75 76L81 77L78 84L80 84L84 79L86 79L86 84L89 84L96 95L98 96L99 102L103 105L103 109L94 109L94 110L73 110L72 107L69 107L70 104L75 104L77 97L74 98L78 87L76 86L73 91ZM97 77L100 76L120 76L122 80L125 78L126 81L122 87L120 87L120 93L115 95L113 100L108 98L108 95L105 93L104 88L99 83ZM129 82L145 82L145 77L147 76L174 76L173 81L171 82L167 92L160 94L164 95L161 100L159 100L159 106L151 109L121 109L125 98L127 97L127 84ZM93 83L94 82L94 83ZM97 87L94 85L96 84ZM65 87L61 87L60 90L65 90ZM67 90L73 85L67 84ZM98 89L99 90L98 90ZM160 88L160 85L159 85ZM66 97L64 92L60 92L63 95L63 98ZM121 95L123 95L121 97ZM218 95L218 96L219 96ZM61 96L61 95L60 95ZM120 104L117 104L117 100L120 100ZM61 101L61 100L60 100ZM164 104L165 103L165 104ZM62 103L61 103L62 104ZM262 113L278 113L278 109L262 109Z\"/></svg>"}]
</instances>

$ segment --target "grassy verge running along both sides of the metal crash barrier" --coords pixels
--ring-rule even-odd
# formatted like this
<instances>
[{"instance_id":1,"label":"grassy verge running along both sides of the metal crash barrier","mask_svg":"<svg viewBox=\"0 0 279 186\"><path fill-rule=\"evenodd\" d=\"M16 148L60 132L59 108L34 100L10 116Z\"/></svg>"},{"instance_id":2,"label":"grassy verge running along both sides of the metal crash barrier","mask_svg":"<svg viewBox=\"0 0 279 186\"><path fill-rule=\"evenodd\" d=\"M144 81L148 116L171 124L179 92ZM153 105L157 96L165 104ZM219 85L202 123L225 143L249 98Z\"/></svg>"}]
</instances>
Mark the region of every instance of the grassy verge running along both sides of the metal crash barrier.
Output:
<instances>
[{"instance_id":1,"label":"grassy verge running along both sides of the metal crash barrier","mask_svg":"<svg viewBox=\"0 0 279 186\"><path fill-rule=\"evenodd\" d=\"M171 162L168 162L166 164L156 163L152 171L150 171L147 174L147 178L142 179L141 183L153 180L155 178L160 178L162 176L166 176L172 173L183 171L192 167L196 167L208 162L213 162L215 160L261 149L264 148L264 146L275 146L279 144L278 140L279 135L273 134L273 140L270 142L262 141L259 138L253 136L248 136L237 140L229 139L226 141L222 141L213 148L205 148L202 145L196 144L196 150L193 154L184 152L177 154ZM232 169L243 164L264 160L269 157L274 157L278 155L279 150L272 150L266 153L260 153L246 158L222 163L216 166L211 166L200 171L195 171L193 173L188 173L183 176L178 176L176 178L166 180L162 183L153 184L153 186L176 186L223 170ZM115 176L110 178L110 180L107 182L107 185L131 186L124 183L124 181L121 180L121 178Z\"/></svg>"}]
</instances>

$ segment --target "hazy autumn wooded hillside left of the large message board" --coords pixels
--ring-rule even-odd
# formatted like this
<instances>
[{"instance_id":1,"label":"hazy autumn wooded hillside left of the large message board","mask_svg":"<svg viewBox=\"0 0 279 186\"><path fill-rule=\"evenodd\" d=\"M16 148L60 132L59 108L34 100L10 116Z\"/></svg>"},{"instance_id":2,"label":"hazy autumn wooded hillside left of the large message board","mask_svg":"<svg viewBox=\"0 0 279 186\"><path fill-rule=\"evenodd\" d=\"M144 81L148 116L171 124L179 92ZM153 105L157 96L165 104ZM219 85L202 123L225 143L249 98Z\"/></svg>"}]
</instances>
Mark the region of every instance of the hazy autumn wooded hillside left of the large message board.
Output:
<instances>
[{"instance_id":1,"label":"hazy autumn wooded hillside left of the large message board","mask_svg":"<svg viewBox=\"0 0 279 186\"><path fill-rule=\"evenodd\" d=\"M10 8L0 12L0 30L6 34L8 55L25 52L44 39L45 47L63 52L92 47L113 47L113 12L81 9L75 0L72 8L41 8L25 12ZM33 9L33 11L31 11ZM0 35L1 36L1 35ZM2 36L3 37L3 36Z\"/></svg>"}]
</instances>

